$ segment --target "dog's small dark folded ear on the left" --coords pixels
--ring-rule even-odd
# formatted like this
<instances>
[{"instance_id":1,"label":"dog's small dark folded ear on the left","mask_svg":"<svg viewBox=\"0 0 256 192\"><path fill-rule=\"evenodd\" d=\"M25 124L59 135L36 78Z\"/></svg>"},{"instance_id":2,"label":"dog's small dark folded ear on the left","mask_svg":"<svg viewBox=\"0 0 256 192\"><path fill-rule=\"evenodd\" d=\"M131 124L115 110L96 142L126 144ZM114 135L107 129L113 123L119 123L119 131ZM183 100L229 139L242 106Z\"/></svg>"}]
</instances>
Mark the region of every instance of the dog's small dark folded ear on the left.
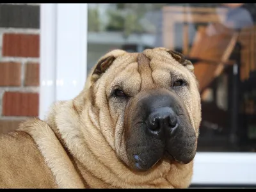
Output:
<instances>
[{"instance_id":1,"label":"dog's small dark folded ear on the left","mask_svg":"<svg viewBox=\"0 0 256 192\"><path fill-rule=\"evenodd\" d=\"M114 60L115 60L115 56L108 56L107 58L100 60L93 70L91 81L92 82L97 81L97 79L99 79L101 74L104 73L109 68L109 66L113 63Z\"/></svg>"}]
</instances>

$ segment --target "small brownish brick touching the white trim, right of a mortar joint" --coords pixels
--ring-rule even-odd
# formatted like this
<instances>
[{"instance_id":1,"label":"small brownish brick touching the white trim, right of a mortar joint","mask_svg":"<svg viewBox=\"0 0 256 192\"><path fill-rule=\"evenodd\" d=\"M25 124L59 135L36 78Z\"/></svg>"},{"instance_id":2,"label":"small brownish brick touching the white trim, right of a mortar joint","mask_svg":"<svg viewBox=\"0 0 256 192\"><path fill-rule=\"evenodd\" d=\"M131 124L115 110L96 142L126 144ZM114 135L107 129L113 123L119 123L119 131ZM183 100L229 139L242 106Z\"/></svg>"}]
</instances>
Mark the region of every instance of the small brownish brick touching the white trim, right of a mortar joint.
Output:
<instances>
[{"instance_id":1,"label":"small brownish brick touching the white trim, right of a mortar joint","mask_svg":"<svg viewBox=\"0 0 256 192\"><path fill-rule=\"evenodd\" d=\"M26 63L25 65L25 86L39 86L39 64Z\"/></svg>"}]
</instances>

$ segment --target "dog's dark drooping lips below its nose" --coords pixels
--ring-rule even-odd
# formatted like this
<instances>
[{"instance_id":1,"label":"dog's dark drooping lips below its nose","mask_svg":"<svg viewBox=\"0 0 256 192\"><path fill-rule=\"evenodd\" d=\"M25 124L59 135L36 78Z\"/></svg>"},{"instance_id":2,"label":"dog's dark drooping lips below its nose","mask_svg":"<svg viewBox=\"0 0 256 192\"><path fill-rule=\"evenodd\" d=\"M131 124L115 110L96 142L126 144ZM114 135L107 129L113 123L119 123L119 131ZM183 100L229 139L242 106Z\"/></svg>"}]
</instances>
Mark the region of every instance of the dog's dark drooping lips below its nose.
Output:
<instances>
[{"instance_id":1,"label":"dog's dark drooping lips below its nose","mask_svg":"<svg viewBox=\"0 0 256 192\"><path fill-rule=\"evenodd\" d=\"M127 154L131 154L128 156L129 165L135 171L146 172L163 161L169 161L171 164L188 164L195 156L194 140L175 137L166 143L154 138L148 138L147 141L149 145L143 142L139 146L134 146L133 142L127 145Z\"/></svg>"}]
</instances>

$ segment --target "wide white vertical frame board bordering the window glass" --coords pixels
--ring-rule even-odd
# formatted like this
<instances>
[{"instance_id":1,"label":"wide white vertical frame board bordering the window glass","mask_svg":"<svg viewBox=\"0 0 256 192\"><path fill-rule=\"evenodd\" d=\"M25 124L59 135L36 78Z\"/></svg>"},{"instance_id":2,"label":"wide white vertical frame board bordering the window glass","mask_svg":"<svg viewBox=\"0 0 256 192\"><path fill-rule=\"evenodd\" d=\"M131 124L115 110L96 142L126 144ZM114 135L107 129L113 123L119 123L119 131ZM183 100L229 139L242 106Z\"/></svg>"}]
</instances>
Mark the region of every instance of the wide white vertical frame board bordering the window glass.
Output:
<instances>
[{"instance_id":1,"label":"wide white vertical frame board bordering the window glass","mask_svg":"<svg viewBox=\"0 0 256 192\"><path fill-rule=\"evenodd\" d=\"M87 4L58 4L56 100L73 99L83 90L87 69Z\"/></svg>"}]
</instances>

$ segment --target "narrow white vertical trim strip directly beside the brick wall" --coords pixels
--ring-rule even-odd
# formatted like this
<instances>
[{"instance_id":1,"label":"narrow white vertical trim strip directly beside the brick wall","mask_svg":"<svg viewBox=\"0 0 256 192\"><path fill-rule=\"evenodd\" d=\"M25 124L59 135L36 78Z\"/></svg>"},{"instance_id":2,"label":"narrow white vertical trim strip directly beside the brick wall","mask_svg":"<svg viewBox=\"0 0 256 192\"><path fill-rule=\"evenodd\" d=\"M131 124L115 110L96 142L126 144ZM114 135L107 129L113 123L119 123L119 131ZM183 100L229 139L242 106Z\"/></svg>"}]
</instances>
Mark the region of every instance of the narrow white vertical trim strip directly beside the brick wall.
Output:
<instances>
[{"instance_id":1,"label":"narrow white vertical trim strip directly beside the brick wall","mask_svg":"<svg viewBox=\"0 0 256 192\"><path fill-rule=\"evenodd\" d=\"M56 99L56 11L57 4L40 4L40 119Z\"/></svg>"}]
</instances>

